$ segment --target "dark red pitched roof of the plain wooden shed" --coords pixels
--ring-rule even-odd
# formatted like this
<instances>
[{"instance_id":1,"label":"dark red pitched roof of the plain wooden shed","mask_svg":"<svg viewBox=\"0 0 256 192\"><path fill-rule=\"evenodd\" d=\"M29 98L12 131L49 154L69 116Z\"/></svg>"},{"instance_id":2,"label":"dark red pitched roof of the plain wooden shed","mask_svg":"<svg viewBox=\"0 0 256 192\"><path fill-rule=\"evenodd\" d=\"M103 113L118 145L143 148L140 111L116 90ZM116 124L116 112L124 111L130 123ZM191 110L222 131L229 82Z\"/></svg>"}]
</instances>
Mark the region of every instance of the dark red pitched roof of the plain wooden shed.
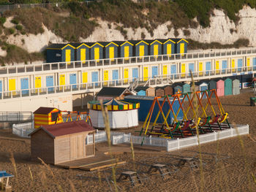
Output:
<instances>
[{"instance_id":1,"label":"dark red pitched roof of the plain wooden shed","mask_svg":"<svg viewBox=\"0 0 256 192\"><path fill-rule=\"evenodd\" d=\"M71 121L67 123L58 123L49 126L40 126L37 130L33 131L31 134L36 133L40 129L44 130L50 135L50 137L56 138L68 134L78 134L85 131L95 131L95 129L89 126L85 120ZM30 134L30 135L31 135Z\"/></svg>"}]
</instances>

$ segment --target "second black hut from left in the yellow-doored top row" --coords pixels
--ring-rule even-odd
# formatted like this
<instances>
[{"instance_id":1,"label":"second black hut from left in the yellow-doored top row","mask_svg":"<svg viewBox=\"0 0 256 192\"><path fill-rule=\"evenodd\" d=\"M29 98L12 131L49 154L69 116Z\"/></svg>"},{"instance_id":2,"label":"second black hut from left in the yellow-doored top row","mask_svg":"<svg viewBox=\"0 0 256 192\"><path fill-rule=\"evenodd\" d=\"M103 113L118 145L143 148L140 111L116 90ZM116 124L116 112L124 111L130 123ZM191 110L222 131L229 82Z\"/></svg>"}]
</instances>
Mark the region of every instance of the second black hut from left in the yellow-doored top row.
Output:
<instances>
[{"instance_id":1,"label":"second black hut from left in the yellow-doored top row","mask_svg":"<svg viewBox=\"0 0 256 192\"><path fill-rule=\"evenodd\" d=\"M83 64L86 61L90 60L90 46L91 43L70 43L73 47L75 47L75 61L83 61Z\"/></svg>"}]
</instances>

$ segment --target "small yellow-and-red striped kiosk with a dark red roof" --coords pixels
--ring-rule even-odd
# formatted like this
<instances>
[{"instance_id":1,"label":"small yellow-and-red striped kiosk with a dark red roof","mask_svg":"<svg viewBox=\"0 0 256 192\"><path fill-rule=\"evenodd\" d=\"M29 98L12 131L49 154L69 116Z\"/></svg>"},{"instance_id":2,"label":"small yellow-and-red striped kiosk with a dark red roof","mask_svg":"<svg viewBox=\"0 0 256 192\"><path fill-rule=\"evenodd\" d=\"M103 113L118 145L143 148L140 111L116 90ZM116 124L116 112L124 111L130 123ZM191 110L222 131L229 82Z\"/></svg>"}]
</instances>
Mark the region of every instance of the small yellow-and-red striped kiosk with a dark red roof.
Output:
<instances>
[{"instance_id":1,"label":"small yellow-and-red striped kiosk with a dark red roof","mask_svg":"<svg viewBox=\"0 0 256 192\"><path fill-rule=\"evenodd\" d=\"M34 128L62 123L61 111L54 107L39 107L34 112Z\"/></svg>"}]
</instances>

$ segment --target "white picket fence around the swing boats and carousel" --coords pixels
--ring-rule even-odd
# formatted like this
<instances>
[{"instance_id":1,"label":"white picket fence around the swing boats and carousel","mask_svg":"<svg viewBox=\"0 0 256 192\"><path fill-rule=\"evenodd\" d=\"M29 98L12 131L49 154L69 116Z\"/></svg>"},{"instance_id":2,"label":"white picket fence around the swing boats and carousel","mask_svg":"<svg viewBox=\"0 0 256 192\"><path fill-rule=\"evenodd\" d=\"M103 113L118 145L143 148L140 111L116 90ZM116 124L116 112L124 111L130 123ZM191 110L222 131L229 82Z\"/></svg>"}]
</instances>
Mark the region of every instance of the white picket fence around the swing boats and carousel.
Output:
<instances>
[{"instance_id":1,"label":"white picket fence around the swing boats and carousel","mask_svg":"<svg viewBox=\"0 0 256 192\"><path fill-rule=\"evenodd\" d=\"M12 125L12 133L20 137L29 138L29 134L34 131L34 123L20 123ZM132 140L133 144L150 145L150 146L159 146L166 147L167 151L178 150L184 147L191 147L198 145L197 136L181 138L181 139L165 139L159 137L141 137L135 136L132 134L125 134L124 132L110 131L110 139L112 145L118 145L121 143L130 143ZM203 134L199 136L200 143L214 142L219 139L226 139L229 137L236 137L237 135L249 134L248 125L237 125L236 128L228 128L223 131L216 131L209 134ZM105 131L96 130L95 142L106 142L107 135ZM93 135L89 135L87 142L93 142Z\"/></svg>"}]
</instances>

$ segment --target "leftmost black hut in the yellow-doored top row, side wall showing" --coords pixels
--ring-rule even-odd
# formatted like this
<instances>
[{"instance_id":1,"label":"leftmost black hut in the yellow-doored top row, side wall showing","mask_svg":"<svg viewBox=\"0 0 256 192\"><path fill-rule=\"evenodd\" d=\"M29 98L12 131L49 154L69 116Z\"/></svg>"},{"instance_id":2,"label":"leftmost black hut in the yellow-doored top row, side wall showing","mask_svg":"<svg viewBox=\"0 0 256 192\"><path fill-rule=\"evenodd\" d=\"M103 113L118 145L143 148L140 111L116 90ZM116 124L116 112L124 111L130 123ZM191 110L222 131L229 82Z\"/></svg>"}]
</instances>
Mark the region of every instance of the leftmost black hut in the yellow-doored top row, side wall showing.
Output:
<instances>
[{"instance_id":1,"label":"leftmost black hut in the yellow-doored top row, side wall showing","mask_svg":"<svg viewBox=\"0 0 256 192\"><path fill-rule=\"evenodd\" d=\"M70 44L52 44L46 48L46 62L67 62L75 61L75 47Z\"/></svg>"}]
</instances>

